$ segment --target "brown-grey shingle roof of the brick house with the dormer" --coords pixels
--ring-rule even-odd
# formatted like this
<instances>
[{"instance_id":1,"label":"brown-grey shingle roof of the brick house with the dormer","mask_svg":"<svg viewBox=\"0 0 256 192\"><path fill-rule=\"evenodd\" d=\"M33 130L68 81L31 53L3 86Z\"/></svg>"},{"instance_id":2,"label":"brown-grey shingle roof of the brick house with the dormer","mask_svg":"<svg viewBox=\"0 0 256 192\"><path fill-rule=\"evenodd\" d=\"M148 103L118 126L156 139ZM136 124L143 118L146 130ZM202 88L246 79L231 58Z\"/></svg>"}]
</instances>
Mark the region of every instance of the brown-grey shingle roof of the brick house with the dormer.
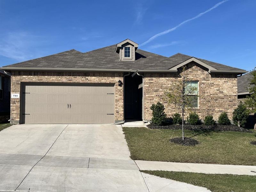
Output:
<instances>
[{"instance_id":1,"label":"brown-grey shingle roof of the brick house with the dormer","mask_svg":"<svg viewBox=\"0 0 256 192\"><path fill-rule=\"evenodd\" d=\"M37 68L96 68L96 69L170 69L191 56L177 53L171 57L164 57L155 53L137 49L135 61L120 61L115 52L116 44L96 49L90 52L79 52L74 49L57 54L28 60L4 67L37 67ZM229 67L208 60L202 62L220 70L242 70Z\"/></svg>"}]
</instances>

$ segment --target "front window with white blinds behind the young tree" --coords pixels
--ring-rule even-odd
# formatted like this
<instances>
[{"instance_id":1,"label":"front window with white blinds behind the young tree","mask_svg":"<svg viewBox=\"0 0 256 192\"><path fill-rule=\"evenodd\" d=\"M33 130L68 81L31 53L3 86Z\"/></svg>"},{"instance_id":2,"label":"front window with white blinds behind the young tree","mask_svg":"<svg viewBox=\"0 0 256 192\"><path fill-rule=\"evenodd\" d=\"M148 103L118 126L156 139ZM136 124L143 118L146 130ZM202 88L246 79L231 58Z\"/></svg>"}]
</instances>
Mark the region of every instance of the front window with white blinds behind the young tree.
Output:
<instances>
[{"instance_id":1,"label":"front window with white blinds behind the young tree","mask_svg":"<svg viewBox=\"0 0 256 192\"><path fill-rule=\"evenodd\" d=\"M185 93L191 97L193 107L198 108L198 81L186 82Z\"/></svg>"}]
</instances>

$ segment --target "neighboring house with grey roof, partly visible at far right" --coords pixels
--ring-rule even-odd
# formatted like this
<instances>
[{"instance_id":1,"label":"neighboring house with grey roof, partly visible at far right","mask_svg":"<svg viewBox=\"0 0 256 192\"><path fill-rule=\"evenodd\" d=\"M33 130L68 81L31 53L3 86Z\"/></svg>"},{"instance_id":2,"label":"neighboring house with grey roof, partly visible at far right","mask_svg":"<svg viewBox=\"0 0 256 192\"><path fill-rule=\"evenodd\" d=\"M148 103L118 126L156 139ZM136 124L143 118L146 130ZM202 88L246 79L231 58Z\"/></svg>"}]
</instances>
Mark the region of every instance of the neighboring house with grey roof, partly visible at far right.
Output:
<instances>
[{"instance_id":1,"label":"neighboring house with grey roof, partly visible at far right","mask_svg":"<svg viewBox=\"0 0 256 192\"><path fill-rule=\"evenodd\" d=\"M246 96L250 95L249 88L252 79L252 73L246 73L237 77L237 99L243 100Z\"/></svg>"}]
</instances>

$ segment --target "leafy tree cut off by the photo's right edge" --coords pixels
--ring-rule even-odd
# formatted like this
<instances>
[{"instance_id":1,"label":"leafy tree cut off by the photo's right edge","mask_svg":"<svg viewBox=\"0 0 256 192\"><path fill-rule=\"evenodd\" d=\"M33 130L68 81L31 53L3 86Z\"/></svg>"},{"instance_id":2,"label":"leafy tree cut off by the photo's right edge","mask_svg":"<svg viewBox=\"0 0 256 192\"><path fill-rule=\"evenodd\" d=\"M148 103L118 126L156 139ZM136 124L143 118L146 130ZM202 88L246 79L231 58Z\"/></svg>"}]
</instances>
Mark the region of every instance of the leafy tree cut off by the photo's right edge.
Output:
<instances>
[{"instance_id":1,"label":"leafy tree cut off by the photo's right edge","mask_svg":"<svg viewBox=\"0 0 256 192\"><path fill-rule=\"evenodd\" d=\"M251 93L247 96L244 103L251 113L256 113L256 67L252 70L252 79L248 91Z\"/></svg>"}]
</instances>

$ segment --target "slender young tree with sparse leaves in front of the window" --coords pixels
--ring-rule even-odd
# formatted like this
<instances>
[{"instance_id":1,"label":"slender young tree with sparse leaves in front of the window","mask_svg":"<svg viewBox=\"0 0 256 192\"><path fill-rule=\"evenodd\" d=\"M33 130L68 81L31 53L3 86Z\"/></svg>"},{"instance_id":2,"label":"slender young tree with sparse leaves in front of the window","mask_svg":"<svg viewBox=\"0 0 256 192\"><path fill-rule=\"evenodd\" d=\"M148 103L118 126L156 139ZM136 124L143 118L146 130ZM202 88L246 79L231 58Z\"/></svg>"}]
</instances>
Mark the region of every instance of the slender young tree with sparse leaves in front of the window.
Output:
<instances>
[{"instance_id":1,"label":"slender young tree with sparse leaves in front of the window","mask_svg":"<svg viewBox=\"0 0 256 192\"><path fill-rule=\"evenodd\" d=\"M164 100L181 111L182 140L184 140L184 112L192 110L195 107L195 100L198 98L197 87L192 86L186 69L186 67L182 68L180 78L172 80L170 82L171 86L164 94Z\"/></svg>"}]
</instances>

